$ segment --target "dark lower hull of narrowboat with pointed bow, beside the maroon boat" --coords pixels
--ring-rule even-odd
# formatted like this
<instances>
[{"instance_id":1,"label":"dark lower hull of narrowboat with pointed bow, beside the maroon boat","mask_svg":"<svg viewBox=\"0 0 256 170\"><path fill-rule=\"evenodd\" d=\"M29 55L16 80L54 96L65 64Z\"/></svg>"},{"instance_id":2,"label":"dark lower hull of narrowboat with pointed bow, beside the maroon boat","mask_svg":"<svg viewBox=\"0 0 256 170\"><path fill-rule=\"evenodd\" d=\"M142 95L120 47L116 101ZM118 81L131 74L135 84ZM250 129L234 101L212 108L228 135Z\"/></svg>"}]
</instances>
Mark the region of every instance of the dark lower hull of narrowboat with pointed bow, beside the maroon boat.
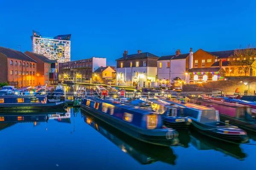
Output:
<instances>
[{"instance_id":1,"label":"dark lower hull of narrowboat with pointed bow, beside the maroon boat","mask_svg":"<svg viewBox=\"0 0 256 170\"><path fill-rule=\"evenodd\" d=\"M224 133L218 133L217 128L213 129L207 129L207 127L204 127L204 124L192 121L192 128L194 130L197 130L199 133L209 136L214 139L220 139L225 142L231 142L231 143L247 143L249 138L247 135L233 135L233 134L224 134Z\"/></svg>"}]
</instances>

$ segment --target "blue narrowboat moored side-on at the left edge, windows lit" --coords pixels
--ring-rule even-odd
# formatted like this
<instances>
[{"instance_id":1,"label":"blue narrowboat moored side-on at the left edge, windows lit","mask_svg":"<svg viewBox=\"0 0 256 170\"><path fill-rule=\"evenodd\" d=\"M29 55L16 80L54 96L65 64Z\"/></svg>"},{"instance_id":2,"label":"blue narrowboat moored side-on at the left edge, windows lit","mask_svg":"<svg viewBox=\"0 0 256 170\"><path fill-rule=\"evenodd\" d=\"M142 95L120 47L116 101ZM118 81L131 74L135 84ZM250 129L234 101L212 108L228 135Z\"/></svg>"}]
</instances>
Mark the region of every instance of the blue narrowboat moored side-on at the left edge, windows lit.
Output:
<instances>
[{"instance_id":1,"label":"blue narrowboat moored side-on at the left edge, windows lit","mask_svg":"<svg viewBox=\"0 0 256 170\"><path fill-rule=\"evenodd\" d=\"M0 111L49 111L50 109L64 110L67 104L65 101L49 103L47 96L0 96Z\"/></svg>"}]
</instances>

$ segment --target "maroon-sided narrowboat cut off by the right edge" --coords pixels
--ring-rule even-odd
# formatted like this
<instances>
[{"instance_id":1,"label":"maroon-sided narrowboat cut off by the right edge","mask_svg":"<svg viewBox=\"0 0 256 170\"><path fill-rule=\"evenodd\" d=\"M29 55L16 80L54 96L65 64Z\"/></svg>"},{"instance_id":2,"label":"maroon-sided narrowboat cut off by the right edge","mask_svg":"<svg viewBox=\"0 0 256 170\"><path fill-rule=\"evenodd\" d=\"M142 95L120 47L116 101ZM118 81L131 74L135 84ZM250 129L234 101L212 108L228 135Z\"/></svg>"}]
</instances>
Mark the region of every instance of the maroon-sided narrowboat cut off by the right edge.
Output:
<instances>
[{"instance_id":1,"label":"maroon-sided narrowboat cut off by the right edge","mask_svg":"<svg viewBox=\"0 0 256 170\"><path fill-rule=\"evenodd\" d=\"M215 108L220 113L221 121L228 120L233 125L236 125L244 130L256 132L256 119L254 119L252 116L250 106L196 97L186 97L186 102L209 108Z\"/></svg>"}]
</instances>

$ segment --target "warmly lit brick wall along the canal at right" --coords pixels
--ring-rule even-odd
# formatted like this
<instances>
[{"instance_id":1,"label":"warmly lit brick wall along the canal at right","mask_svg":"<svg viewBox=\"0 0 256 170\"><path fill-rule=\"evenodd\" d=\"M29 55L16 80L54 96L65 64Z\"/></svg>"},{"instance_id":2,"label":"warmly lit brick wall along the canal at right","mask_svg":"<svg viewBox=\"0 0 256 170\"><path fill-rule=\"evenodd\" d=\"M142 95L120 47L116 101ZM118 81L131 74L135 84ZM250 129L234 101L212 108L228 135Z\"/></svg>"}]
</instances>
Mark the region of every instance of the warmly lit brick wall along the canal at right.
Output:
<instances>
[{"instance_id":1,"label":"warmly lit brick wall along the canal at right","mask_svg":"<svg viewBox=\"0 0 256 170\"><path fill-rule=\"evenodd\" d=\"M247 85L244 85L247 82ZM206 82L201 84L183 85L184 92L206 92L222 91L224 94L235 93L238 88L239 93L244 94L244 91L248 91L248 94L254 94L256 91L256 77L229 79L216 82Z\"/></svg>"}]
</instances>

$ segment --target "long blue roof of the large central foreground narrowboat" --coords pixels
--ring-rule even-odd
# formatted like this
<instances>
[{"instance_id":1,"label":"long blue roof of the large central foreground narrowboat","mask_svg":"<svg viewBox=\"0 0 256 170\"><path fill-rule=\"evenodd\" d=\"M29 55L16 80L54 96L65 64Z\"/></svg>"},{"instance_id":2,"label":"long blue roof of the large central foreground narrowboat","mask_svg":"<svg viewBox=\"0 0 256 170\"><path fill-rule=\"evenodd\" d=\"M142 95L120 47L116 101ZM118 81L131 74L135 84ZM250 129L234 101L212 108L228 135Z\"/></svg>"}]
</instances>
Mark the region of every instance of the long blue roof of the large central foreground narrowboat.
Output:
<instances>
[{"instance_id":1,"label":"long blue roof of the large central foreground narrowboat","mask_svg":"<svg viewBox=\"0 0 256 170\"><path fill-rule=\"evenodd\" d=\"M145 109L140 109L139 107L134 107L134 106L131 106L131 105L125 105L125 104L122 104L120 102L110 101L110 100L106 100L106 99L100 99L100 98L97 98L97 97L86 97L84 99L89 99L89 100L96 101L96 102L104 102L104 103L107 103L107 104L110 104L110 105L118 106L119 108L124 108L124 109L128 109L128 110L131 110L131 111L135 111L135 112L138 112L138 113L143 114L143 115L148 114L148 113L157 113L157 112L154 112L154 111L148 111L148 110L145 110Z\"/></svg>"}]
</instances>

